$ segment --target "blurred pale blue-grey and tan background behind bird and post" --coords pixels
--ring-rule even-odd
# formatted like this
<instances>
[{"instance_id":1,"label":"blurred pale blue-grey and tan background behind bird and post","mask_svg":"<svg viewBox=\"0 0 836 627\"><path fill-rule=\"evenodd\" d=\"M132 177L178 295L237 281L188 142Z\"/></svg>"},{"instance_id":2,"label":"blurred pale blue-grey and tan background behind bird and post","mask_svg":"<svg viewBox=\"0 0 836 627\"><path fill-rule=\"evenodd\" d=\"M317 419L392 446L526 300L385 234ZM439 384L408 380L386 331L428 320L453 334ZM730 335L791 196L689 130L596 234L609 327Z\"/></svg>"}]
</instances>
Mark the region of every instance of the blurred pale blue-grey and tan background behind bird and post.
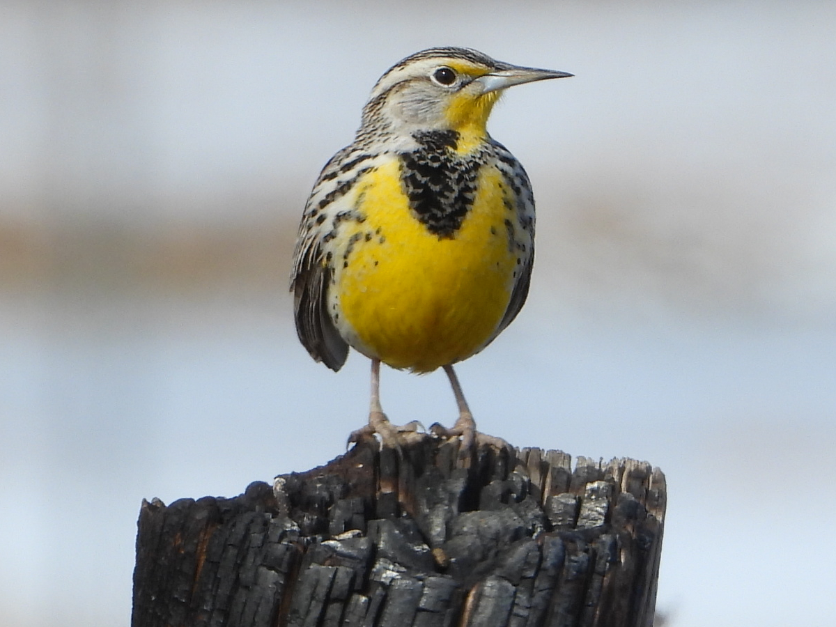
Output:
<instances>
[{"instance_id":1,"label":"blurred pale blue-grey and tan background behind bird and post","mask_svg":"<svg viewBox=\"0 0 836 627\"><path fill-rule=\"evenodd\" d=\"M538 198L482 431L668 478L666 624L832 625L836 3L0 3L0 624L128 624L142 498L344 451L368 360L298 344L298 217L375 80L461 45L573 79L492 135ZM393 421L456 417L385 370Z\"/></svg>"}]
</instances>

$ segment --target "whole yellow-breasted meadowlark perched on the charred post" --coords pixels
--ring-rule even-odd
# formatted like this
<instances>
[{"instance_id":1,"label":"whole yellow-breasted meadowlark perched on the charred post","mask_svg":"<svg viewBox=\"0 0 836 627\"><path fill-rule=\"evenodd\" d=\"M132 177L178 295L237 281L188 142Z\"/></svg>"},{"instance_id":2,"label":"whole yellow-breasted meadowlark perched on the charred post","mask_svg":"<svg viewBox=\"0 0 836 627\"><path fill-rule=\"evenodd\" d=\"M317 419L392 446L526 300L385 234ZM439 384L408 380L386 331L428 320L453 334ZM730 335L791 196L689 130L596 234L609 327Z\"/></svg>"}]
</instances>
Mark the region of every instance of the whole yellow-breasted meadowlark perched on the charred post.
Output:
<instances>
[{"instance_id":1,"label":"whole yellow-breasted meadowlark perched on the charred post","mask_svg":"<svg viewBox=\"0 0 836 627\"><path fill-rule=\"evenodd\" d=\"M487 133L502 91L572 76L430 48L378 80L354 142L311 191L293 255L299 339L331 370L349 346L371 359L369 424L349 441L400 433L380 405L380 362L441 367L459 408L444 436L470 451L476 425L453 364L490 344L523 307L534 258L534 198L523 166ZM481 434L478 434L481 437Z\"/></svg>"}]
</instances>

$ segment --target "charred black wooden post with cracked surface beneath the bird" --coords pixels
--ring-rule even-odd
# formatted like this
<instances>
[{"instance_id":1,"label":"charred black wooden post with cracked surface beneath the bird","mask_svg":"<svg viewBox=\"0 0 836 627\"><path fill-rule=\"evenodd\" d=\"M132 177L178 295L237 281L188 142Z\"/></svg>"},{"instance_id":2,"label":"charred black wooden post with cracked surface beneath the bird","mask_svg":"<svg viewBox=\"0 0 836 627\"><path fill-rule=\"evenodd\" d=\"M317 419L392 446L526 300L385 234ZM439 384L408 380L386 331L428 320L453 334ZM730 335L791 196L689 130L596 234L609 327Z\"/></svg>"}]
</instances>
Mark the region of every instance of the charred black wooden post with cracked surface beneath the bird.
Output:
<instances>
[{"instance_id":1,"label":"charred black wooden post with cracked surface beneath the bird","mask_svg":"<svg viewBox=\"0 0 836 627\"><path fill-rule=\"evenodd\" d=\"M242 495L143 502L133 627L650 627L665 476L364 442Z\"/></svg>"}]
</instances>

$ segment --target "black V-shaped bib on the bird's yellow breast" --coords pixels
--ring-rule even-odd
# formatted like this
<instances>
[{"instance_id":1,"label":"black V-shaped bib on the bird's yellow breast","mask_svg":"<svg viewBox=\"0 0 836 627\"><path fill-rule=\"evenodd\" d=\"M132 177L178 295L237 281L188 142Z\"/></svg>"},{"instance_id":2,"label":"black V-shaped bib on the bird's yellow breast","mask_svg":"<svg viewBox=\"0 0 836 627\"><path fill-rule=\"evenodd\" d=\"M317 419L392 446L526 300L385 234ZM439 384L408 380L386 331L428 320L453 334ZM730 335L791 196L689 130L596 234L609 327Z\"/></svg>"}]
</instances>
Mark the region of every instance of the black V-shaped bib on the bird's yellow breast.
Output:
<instances>
[{"instance_id":1,"label":"black V-shaped bib on the bird's yellow breast","mask_svg":"<svg viewBox=\"0 0 836 627\"><path fill-rule=\"evenodd\" d=\"M425 131L413 137L419 148L400 155L410 210L433 235L454 237L476 196L481 155L456 155L455 130Z\"/></svg>"}]
</instances>

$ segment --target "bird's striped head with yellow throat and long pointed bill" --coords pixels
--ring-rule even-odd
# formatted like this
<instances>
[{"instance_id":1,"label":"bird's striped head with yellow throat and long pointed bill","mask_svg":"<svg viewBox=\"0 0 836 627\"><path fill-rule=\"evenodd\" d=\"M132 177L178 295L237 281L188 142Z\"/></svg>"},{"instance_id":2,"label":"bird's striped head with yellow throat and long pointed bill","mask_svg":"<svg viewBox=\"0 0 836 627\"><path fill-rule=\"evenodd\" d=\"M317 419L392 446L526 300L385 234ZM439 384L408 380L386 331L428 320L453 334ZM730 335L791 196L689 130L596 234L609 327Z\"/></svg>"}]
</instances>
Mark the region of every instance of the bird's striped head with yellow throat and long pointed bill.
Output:
<instances>
[{"instance_id":1,"label":"bird's striped head with yellow throat and long pointed bill","mask_svg":"<svg viewBox=\"0 0 836 627\"><path fill-rule=\"evenodd\" d=\"M470 48L430 48L380 77L364 107L360 131L409 135L456 130L482 136L505 89L567 76L572 74L502 63Z\"/></svg>"}]
</instances>

